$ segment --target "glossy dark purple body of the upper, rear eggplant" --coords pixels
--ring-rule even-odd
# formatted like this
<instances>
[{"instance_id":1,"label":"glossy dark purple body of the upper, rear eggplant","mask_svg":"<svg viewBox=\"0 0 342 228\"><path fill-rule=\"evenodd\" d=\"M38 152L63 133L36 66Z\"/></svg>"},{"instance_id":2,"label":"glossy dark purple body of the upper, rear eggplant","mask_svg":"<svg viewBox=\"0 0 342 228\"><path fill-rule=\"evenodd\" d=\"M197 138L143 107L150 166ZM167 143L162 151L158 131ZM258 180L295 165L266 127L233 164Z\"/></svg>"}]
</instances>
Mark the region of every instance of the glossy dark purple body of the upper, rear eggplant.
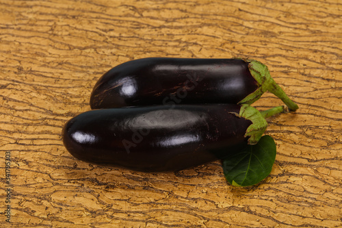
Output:
<instances>
[{"instance_id":1,"label":"glossy dark purple body of the upper, rear eggplant","mask_svg":"<svg viewBox=\"0 0 342 228\"><path fill-rule=\"evenodd\" d=\"M144 58L105 73L90 106L238 103L257 88L248 62L241 59Z\"/></svg>"}]
</instances>

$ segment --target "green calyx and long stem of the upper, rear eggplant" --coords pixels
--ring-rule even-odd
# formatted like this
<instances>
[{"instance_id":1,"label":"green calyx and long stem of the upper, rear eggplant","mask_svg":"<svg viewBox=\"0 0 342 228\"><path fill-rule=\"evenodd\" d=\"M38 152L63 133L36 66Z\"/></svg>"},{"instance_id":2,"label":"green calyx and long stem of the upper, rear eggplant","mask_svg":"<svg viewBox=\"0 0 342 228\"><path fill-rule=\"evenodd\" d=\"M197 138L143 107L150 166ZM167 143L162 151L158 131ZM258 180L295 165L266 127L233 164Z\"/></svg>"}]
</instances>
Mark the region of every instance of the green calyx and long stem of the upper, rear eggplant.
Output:
<instances>
[{"instance_id":1,"label":"green calyx and long stem of the upper, rear eggplant","mask_svg":"<svg viewBox=\"0 0 342 228\"><path fill-rule=\"evenodd\" d=\"M291 101L289 97L287 97L287 94L285 94L284 90L282 90L282 88L280 88L280 86L276 84L276 81L274 81L274 79L271 77L267 66L257 60L244 61L248 62L250 74L257 81L259 88L249 94L243 100L239 101L239 104L252 104L254 103L254 101L257 101L264 92L269 91L280 98L285 103L285 105L289 107L289 110L298 110L298 105Z\"/></svg>"}]
</instances>

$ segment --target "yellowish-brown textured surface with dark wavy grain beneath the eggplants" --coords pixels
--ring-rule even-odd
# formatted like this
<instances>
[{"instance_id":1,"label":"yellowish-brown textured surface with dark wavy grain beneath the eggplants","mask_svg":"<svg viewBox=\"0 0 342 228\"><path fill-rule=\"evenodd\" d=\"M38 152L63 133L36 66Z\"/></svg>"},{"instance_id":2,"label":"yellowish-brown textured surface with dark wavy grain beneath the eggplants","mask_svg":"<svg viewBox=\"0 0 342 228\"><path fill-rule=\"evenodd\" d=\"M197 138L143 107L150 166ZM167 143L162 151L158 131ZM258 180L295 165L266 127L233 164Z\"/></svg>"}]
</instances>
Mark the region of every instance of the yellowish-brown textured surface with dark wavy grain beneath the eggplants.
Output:
<instances>
[{"instance_id":1,"label":"yellowish-brown textured surface with dark wavy grain beneath the eggplants","mask_svg":"<svg viewBox=\"0 0 342 228\"><path fill-rule=\"evenodd\" d=\"M12 227L342 227L339 0L0 0L1 223ZM145 57L253 58L300 105L269 118L278 154L249 188L220 162L139 173L80 162L64 123L112 66ZM254 104L280 105L272 94Z\"/></svg>"}]
</instances>

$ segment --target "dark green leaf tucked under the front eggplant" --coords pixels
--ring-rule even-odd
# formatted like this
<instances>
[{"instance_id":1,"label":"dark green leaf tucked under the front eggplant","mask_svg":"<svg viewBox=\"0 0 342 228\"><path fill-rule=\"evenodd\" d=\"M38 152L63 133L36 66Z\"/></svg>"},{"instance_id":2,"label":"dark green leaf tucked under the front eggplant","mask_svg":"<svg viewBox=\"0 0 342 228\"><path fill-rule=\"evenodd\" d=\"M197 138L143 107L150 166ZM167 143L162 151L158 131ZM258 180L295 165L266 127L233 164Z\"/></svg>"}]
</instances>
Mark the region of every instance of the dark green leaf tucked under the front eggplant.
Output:
<instances>
[{"instance_id":1,"label":"dark green leaf tucked under the front eggplant","mask_svg":"<svg viewBox=\"0 0 342 228\"><path fill-rule=\"evenodd\" d=\"M233 186L252 186L271 173L276 160L276 143L271 136L263 136L255 145L237 151L223 160L223 171Z\"/></svg>"}]
</instances>

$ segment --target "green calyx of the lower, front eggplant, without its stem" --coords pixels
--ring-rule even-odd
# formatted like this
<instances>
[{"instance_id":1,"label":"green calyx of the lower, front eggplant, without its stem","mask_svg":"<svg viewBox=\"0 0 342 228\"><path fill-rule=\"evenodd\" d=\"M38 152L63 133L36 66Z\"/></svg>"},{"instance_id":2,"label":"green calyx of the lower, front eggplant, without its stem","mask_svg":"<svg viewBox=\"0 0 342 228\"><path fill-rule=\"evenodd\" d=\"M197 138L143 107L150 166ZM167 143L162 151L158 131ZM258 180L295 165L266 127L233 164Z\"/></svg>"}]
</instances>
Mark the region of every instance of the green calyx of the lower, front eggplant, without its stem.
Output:
<instances>
[{"instance_id":1,"label":"green calyx of the lower, front eggplant, without its stem","mask_svg":"<svg viewBox=\"0 0 342 228\"><path fill-rule=\"evenodd\" d=\"M245 138L249 137L248 144L257 144L267 128L267 121L257 109L248 104L241 105L239 116L252 121L246 130Z\"/></svg>"}]
</instances>

